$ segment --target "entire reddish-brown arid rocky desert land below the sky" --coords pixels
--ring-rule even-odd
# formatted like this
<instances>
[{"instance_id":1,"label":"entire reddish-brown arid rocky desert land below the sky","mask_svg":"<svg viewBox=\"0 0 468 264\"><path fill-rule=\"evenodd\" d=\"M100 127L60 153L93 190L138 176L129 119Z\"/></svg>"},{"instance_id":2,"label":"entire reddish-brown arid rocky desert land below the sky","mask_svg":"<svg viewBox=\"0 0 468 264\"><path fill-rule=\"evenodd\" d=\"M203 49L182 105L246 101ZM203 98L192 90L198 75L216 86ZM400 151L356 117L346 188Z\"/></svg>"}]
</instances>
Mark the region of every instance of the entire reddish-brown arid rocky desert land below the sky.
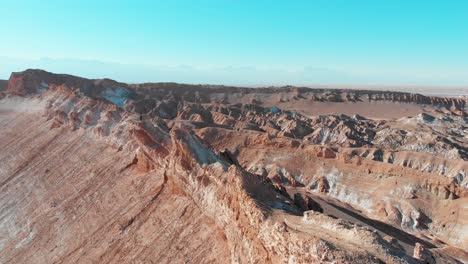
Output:
<instances>
[{"instance_id":1,"label":"entire reddish-brown arid rocky desert land below the sky","mask_svg":"<svg viewBox=\"0 0 468 264\"><path fill-rule=\"evenodd\" d=\"M468 99L0 81L0 263L468 263Z\"/></svg>"}]
</instances>

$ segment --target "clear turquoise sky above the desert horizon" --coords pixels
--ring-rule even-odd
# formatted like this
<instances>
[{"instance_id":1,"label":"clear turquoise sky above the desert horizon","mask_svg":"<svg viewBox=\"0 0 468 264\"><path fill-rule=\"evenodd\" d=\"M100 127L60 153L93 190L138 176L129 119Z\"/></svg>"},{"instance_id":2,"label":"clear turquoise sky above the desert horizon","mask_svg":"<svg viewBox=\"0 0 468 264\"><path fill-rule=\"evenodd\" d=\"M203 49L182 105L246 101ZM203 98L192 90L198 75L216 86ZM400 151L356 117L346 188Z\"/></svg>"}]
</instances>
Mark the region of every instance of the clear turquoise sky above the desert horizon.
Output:
<instances>
[{"instance_id":1,"label":"clear turquoise sky above the desert horizon","mask_svg":"<svg viewBox=\"0 0 468 264\"><path fill-rule=\"evenodd\" d=\"M468 85L464 0L2 0L0 78Z\"/></svg>"}]
</instances>

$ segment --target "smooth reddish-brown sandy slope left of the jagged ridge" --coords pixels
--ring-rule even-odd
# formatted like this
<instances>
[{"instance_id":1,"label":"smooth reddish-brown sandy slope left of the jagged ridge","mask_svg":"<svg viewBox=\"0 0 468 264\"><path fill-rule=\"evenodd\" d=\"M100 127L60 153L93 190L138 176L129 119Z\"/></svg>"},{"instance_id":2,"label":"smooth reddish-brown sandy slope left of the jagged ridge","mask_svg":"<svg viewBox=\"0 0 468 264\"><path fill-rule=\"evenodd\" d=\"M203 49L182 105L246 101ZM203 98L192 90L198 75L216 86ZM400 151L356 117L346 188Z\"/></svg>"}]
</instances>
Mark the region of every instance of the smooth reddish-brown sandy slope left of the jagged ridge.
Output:
<instances>
[{"instance_id":1,"label":"smooth reddish-brown sandy slope left of the jagged ridge","mask_svg":"<svg viewBox=\"0 0 468 264\"><path fill-rule=\"evenodd\" d=\"M222 231L163 171L138 173L132 155L49 126L41 113L0 114L1 263L230 258Z\"/></svg>"}]
</instances>

